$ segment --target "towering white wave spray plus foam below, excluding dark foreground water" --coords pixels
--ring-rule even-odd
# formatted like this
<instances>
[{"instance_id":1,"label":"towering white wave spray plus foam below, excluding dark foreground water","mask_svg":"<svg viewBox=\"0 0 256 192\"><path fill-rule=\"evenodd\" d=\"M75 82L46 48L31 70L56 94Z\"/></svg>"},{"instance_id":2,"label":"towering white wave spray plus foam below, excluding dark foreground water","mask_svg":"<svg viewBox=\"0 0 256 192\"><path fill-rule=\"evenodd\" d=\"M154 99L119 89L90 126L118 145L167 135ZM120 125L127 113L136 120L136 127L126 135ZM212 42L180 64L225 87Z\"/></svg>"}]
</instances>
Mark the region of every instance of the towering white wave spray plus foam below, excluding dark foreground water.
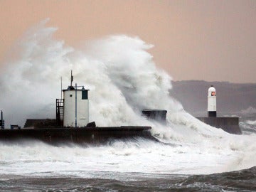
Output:
<instances>
[{"instance_id":1,"label":"towering white wave spray plus foam below, excluding dark foreground water","mask_svg":"<svg viewBox=\"0 0 256 192\"><path fill-rule=\"evenodd\" d=\"M90 121L98 126L149 125L163 143L117 141L100 147L1 143L4 173L10 174L17 162L18 174L208 174L255 166L254 134L237 136L203 124L169 97L171 77L156 68L147 52L151 45L120 35L72 48L53 38L56 28L45 25L43 21L28 30L17 43L15 57L2 67L0 106L6 122L55 118L60 77L68 86L73 70L74 81L90 89ZM144 119L145 108L168 110L167 123Z\"/></svg>"}]
</instances>

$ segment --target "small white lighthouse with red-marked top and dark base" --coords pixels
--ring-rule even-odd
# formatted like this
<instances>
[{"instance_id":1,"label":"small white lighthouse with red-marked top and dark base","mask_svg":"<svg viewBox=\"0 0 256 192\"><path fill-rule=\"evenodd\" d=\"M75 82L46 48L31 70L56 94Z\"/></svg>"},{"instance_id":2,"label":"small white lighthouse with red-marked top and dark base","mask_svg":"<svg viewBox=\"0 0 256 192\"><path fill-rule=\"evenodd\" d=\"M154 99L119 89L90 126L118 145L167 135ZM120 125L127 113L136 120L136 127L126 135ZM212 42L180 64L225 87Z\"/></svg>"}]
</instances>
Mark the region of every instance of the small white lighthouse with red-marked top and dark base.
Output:
<instances>
[{"instance_id":1,"label":"small white lighthouse with red-marked top and dark base","mask_svg":"<svg viewBox=\"0 0 256 192\"><path fill-rule=\"evenodd\" d=\"M208 89L208 117L217 117L216 90L213 85Z\"/></svg>"}]
</instances>

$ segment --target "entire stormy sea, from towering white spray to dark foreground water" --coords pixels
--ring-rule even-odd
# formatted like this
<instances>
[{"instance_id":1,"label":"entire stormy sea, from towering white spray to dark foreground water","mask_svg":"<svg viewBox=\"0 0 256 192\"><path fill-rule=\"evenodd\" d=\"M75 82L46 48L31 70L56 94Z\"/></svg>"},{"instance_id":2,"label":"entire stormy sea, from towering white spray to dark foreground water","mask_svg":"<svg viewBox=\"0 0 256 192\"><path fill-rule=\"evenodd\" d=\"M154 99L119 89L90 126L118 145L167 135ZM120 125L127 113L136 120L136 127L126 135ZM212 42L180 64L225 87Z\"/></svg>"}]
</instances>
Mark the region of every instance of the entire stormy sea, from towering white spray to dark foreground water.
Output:
<instances>
[{"instance_id":1,"label":"entire stormy sea, from towering white spray to dark foreground water","mask_svg":"<svg viewBox=\"0 0 256 192\"><path fill-rule=\"evenodd\" d=\"M255 191L256 118L243 117L242 135L203 124L170 97L171 77L140 38L108 36L73 48L46 25L28 29L3 63L6 124L54 118L60 77L68 86L72 69L74 82L90 89L90 121L151 126L161 142L0 142L1 191ZM168 110L166 124L144 119L143 109Z\"/></svg>"}]
</instances>

